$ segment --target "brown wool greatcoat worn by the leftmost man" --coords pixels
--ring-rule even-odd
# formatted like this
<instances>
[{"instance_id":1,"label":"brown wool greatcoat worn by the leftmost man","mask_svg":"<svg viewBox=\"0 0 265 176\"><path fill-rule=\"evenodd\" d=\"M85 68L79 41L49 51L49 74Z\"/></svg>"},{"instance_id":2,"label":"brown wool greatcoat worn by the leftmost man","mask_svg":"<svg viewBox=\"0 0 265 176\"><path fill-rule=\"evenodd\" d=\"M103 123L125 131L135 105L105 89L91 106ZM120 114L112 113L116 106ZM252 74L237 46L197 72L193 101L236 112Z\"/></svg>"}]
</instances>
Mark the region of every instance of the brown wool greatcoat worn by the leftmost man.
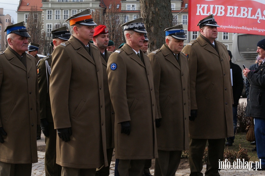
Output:
<instances>
[{"instance_id":1,"label":"brown wool greatcoat worn by the leftmost man","mask_svg":"<svg viewBox=\"0 0 265 176\"><path fill-rule=\"evenodd\" d=\"M36 59L26 54L27 69L8 48L0 55L0 161L37 163L39 88ZM0 174L1 175L1 174Z\"/></svg>"}]
</instances>

